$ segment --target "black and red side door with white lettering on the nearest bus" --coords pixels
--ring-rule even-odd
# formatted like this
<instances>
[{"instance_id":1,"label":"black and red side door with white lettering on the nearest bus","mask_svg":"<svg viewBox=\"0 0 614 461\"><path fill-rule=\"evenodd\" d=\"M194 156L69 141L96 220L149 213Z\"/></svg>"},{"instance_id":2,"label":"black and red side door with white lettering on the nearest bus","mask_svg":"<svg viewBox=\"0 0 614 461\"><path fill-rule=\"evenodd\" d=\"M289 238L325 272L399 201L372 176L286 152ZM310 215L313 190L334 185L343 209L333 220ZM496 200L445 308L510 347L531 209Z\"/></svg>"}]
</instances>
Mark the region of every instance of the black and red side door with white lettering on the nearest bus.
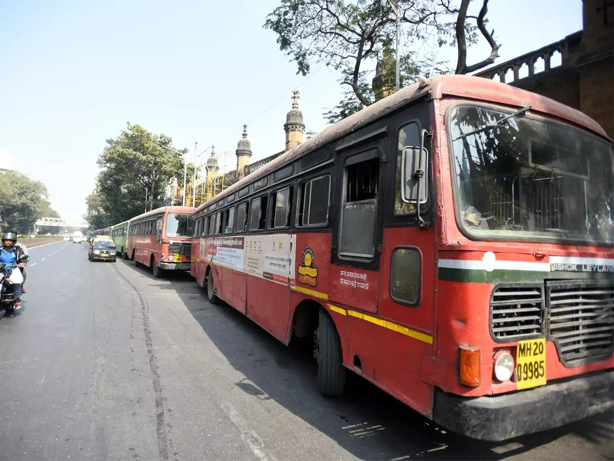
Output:
<instances>
[{"instance_id":1,"label":"black and red side door with white lettering on the nearest bus","mask_svg":"<svg viewBox=\"0 0 614 461\"><path fill-rule=\"evenodd\" d=\"M386 129L346 136L336 148L330 301L378 312ZM361 136L362 135L362 136ZM356 138L367 138L356 143ZM350 144L350 146L348 146ZM348 146L346 148L346 146Z\"/></svg>"}]
</instances>

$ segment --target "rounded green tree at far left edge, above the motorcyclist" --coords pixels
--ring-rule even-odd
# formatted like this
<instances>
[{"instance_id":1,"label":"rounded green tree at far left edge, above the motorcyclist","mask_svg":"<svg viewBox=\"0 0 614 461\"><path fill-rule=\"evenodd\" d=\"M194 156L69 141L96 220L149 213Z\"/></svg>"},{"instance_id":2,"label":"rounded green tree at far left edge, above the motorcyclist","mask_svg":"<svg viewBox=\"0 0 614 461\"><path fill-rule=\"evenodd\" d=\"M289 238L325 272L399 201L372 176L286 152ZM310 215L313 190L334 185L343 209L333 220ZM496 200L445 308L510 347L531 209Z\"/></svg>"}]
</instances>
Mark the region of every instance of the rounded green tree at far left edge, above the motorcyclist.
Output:
<instances>
[{"instance_id":1,"label":"rounded green tree at far left edge, above the motorcyclist","mask_svg":"<svg viewBox=\"0 0 614 461\"><path fill-rule=\"evenodd\" d=\"M0 216L9 229L27 234L49 209L47 187L17 171L0 173Z\"/></svg>"}]
</instances>

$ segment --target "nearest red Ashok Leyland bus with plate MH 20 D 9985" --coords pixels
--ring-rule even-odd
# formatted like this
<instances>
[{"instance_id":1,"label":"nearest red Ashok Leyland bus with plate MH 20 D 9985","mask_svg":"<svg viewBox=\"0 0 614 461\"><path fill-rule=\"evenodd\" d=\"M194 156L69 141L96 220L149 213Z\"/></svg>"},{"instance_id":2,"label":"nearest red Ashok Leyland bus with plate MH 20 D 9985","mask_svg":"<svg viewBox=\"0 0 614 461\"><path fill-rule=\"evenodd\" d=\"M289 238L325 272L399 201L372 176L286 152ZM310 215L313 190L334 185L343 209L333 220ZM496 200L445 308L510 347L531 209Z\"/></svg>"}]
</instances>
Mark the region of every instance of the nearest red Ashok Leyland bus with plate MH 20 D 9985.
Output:
<instances>
[{"instance_id":1,"label":"nearest red Ashok Leyland bus with plate MH 20 D 9985","mask_svg":"<svg viewBox=\"0 0 614 461\"><path fill-rule=\"evenodd\" d=\"M421 80L198 207L192 275L315 330L325 395L350 370L473 438L557 427L613 406L613 165L575 109Z\"/></svg>"}]
</instances>

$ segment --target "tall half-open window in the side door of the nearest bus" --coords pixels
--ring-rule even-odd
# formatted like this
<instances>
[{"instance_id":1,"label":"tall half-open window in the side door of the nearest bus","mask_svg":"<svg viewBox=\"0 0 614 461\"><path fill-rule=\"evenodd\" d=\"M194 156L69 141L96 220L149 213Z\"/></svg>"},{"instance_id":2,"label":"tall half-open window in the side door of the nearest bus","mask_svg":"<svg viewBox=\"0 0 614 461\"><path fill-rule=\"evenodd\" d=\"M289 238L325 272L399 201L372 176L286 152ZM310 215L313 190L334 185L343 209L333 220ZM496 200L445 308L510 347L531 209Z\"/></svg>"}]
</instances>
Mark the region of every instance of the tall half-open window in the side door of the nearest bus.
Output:
<instances>
[{"instance_id":1,"label":"tall half-open window in the side door of the nearest bus","mask_svg":"<svg viewBox=\"0 0 614 461\"><path fill-rule=\"evenodd\" d=\"M362 160L362 161L361 161ZM348 157L344 171L340 256L375 256L379 156L377 149Z\"/></svg>"}]
</instances>

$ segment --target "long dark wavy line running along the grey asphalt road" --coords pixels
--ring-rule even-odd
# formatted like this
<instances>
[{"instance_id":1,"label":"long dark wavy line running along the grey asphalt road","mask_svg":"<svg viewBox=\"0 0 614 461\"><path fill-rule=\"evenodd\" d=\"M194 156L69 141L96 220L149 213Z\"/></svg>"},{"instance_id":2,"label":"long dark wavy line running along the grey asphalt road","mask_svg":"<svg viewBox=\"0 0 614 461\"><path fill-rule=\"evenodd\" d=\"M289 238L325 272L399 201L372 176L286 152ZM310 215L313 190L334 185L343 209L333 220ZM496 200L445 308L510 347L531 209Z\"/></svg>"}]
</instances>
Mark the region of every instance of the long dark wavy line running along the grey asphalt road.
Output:
<instances>
[{"instance_id":1,"label":"long dark wavy line running along the grey asphalt road","mask_svg":"<svg viewBox=\"0 0 614 461\"><path fill-rule=\"evenodd\" d=\"M155 360L155 353L153 353L153 345L152 345L152 334L149 326L149 304L147 304L147 299L141 293L133 283L128 280L128 278L124 277L117 267L114 266L115 272L119 274L120 277L125 280L128 285L134 290L134 293L139 297L139 302L141 303L141 312L143 317L143 333L145 334L145 345L147 347L147 356L149 357L149 369L152 372L152 384L153 384L153 394L155 395L155 419L156 419L156 433L158 435L158 455L161 459L168 460L168 441L166 439L166 430L165 430L165 422L164 422L164 401L162 398L162 387L160 384L160 372L158 372L158 365Z\"/></svg>"}]
</instances>

